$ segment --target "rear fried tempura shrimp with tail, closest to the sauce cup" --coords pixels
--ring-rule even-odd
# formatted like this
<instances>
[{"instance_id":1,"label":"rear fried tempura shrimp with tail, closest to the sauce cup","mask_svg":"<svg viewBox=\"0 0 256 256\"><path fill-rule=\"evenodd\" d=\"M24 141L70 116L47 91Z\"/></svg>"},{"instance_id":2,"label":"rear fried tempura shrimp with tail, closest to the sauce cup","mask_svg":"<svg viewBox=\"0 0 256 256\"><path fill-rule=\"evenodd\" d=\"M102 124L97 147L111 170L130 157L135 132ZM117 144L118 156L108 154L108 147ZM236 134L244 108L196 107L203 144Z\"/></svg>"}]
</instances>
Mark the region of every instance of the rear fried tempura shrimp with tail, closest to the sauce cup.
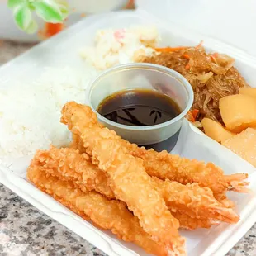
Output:
<instances>
[{"instance_id":1,"label":"rear fried tempura shrimp with tail, closest to the sauce cup","mask_svg":"<svg viewBox=\"0 0 256 256\"><path fill-rule=\"evenodd\" d=\"M97 122L96 115L90 116L90 121L95 126L102 127L102 124ZM72 146L83 152L83 142L80 140L78 135L73 135ZM146 150L138 145L130 144L126 140L121 140L121 145L126 147L133 156L144 160L145 170L150 176L163 180L168 178L171 181L185 185L187 183L198 183L201 187L211 188L214 196L219 201L226 198L225 194L229 190L248 192L246 186L249 183L244 181L248 178L247 173L225 175L219 167L212 163L205 164L196 159L181 158L178 155L168 154L167 151L159 153L153 149ZM230 203L230 207L232 206L233 204Z\"/></svg>"}]
</instances>

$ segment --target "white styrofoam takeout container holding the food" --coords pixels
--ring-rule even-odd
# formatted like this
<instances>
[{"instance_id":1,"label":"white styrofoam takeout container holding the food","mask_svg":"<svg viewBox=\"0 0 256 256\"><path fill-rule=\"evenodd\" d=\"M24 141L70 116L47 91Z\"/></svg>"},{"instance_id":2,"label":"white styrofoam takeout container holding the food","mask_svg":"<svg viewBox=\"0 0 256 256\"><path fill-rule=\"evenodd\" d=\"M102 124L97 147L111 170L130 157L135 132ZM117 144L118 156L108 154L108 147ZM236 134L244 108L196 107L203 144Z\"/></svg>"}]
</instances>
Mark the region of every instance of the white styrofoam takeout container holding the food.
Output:
<instances>
[{"instance_id":1,"label":"white styrofoam takeout container holding the food","mask_svg":"<svg viewBox=\"0 0 256 256\"><path fill-rule=\"evenodd\" d=\"M34 79L45 66L64 66L72 64L74 69L83 73L85 66L78 55L78 50L85 45L92 45L95 32L102 28L121 28L130 25L154 24L159 28L162 45L197 45L204 40L208 50L215 50L233 56L236 66L247 79L248 83L256 84L256 59L243 51L212 40L207 36L184 30L172 23L164 23L150 16L147 12L115 12L106 15L88 17L66 31L59 33L50 40L37 45L32 50L12 60L0 68L0 86L8 89L13 78ZM87 85L85 85L86 88ZM31 116L31 118L33 118ZM8 135L6 135L8 136ZM0 138L1 140L1 138ZM15 141L10 141L15 143ZM26 141L24 141L26 143ZM187 254L189 256L225 255L239 239L254 225L256 213L256 173L255 168L233 154L229 149L203 135L188 121L183 122L178 143L173 153L187 158L195 158L213 162L225 170L226 174L247 172L252 192L238 194L230 192L230 198L236 202L236 211L240 220L236 225L221 224L210 230L181 231L187 238ZM26 167L29 159L12 159L12 170L0 166L0 182L11 188L19 196L36 206L40 211L59 221L73 232L87 239L108 255L146 255L134 244L122 242L110 232L98 230L91 223L82 220L50 196L40 192L26 180Z\"/></svg>"}]
</instances>

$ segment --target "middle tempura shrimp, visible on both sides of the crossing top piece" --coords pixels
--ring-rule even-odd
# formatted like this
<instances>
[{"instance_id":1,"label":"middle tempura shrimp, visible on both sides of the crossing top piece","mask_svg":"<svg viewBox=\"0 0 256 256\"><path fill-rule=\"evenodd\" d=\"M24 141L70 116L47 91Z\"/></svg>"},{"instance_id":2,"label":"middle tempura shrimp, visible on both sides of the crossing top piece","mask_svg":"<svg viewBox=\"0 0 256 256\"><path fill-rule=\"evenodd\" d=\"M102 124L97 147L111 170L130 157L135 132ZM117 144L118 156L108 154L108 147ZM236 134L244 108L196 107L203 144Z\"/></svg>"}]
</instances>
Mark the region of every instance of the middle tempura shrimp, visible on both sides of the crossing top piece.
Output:
<instances>
[{"instance_id":1,"label":"middle tempura shrimp, visible on both sides of the crossing top piece","mask_svg":"<svg viewBox=\"0 0 256 256\"><path fill-rule=\"evenodd\" d=\"M85 192L96 190L108 198L115 198L107 184L106 174L90 162L87 154L80 154L77 149L57 149L51 146L47 151L38 150L33 163L59 179L72 181ZM172 213L178 211L197 220L221 220L229 223L239 220L233 210L226 209L216 201L208 187L200 187L197 183L183 185L158 178L152 179ZM200 224L198 227L201 227L201 223L197 223ZM186 228L185 225L183 227ZM187 228L191 229L191 225Z\"/></svg>"}]
</instances>

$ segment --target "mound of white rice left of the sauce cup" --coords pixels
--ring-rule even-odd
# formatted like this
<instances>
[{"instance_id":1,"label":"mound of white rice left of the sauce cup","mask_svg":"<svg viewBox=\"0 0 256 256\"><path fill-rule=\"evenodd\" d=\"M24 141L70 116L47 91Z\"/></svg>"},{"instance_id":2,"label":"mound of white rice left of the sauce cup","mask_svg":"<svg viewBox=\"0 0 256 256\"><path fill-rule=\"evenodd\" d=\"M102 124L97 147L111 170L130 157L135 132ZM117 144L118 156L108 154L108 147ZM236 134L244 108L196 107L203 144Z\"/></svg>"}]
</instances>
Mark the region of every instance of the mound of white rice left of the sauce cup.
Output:
<instances>
[{"instance_id":1,"label":"mound of white rice left of the sauce cup","mask_svg":"<svg viewBox=\"0 0 256 256\"><path fill-rule=\"evenodd\" d=\"M84 76L86 75L86 78ZM33 155L50 144L67 145L70 133L59 122L66 102L84 103L85 89L95 71L83 77L75 70L48 68L33 83L0 89L0 164Z\"/></svg>"}]
</instances>

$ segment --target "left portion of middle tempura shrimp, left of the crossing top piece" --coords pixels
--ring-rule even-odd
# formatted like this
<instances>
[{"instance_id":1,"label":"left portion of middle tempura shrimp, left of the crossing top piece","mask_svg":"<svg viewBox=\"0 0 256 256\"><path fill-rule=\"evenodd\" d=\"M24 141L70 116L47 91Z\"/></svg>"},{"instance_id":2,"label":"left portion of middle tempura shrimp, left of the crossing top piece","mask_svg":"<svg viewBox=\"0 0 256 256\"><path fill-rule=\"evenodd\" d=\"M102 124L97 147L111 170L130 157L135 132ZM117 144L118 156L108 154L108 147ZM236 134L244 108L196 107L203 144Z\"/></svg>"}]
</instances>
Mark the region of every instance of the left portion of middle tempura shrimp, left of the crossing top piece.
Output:
<instances>
[{"instance_id":1,"label":"left portion of middle tempura shrimp, left of the crossing top piece","mask_svg":"<svg viewBox=\"0 0 256 256\"><path fill-rule=\"evenodd\" d=\"M91 163L88 154L78 150L50 146L50 150L38 150L32 162L43 167L51 175L77 183L84 192L95 190L109 199L115 199L107 185L107 176Z\"/></svg>"}]
</instances>

